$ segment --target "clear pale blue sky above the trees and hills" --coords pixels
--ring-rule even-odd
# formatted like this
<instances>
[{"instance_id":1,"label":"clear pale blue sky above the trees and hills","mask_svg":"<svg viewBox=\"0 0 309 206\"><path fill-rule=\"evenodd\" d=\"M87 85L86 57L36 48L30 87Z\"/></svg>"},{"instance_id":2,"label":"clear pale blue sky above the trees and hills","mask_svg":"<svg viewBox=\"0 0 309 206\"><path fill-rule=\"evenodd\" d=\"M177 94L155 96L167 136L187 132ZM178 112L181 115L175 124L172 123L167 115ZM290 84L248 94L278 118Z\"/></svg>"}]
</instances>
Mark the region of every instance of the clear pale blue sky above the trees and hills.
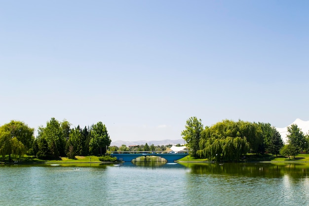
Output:
<instances>
[{"instance_id":1,"label":"clear pale blue sky above the trees and hills","mask_svg":"<svg viewBox=\"0 0 309 206\"><path fill-rule=\"evenodd\" d=\"M309 1L0 0L0 125L180 139L192 116L309 120Z\"/></svg>"}]
</instances>

